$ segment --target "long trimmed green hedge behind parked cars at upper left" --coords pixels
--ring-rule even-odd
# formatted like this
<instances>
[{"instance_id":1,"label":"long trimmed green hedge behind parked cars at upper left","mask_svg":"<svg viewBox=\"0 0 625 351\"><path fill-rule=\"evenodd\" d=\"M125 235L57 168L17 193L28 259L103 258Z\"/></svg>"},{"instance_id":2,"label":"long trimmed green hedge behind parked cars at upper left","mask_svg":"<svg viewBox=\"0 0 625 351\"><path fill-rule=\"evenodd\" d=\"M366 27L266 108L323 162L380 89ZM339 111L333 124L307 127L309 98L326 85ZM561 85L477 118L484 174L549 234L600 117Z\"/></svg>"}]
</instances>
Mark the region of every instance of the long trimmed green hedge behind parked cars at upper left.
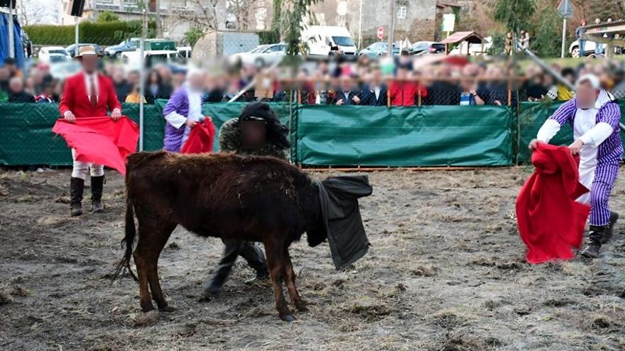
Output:
<instances>
[{"instance_id":1,"label":"long trimmed green hedge behind parked cars at upper left","mask_svg":"<svg viewBox=\"0 0 625 351\"><path fill-rule=\"evenodd\" d=\"M148 24L153 33L156 23ZM38 24L24 27L34 45L72 45L75 43L74 26L53 26ZM95 23L85 21L79 24L80 43L116 45L122 40L141 35L141 21L116 21Z\"/></svg>"}]
</instances>

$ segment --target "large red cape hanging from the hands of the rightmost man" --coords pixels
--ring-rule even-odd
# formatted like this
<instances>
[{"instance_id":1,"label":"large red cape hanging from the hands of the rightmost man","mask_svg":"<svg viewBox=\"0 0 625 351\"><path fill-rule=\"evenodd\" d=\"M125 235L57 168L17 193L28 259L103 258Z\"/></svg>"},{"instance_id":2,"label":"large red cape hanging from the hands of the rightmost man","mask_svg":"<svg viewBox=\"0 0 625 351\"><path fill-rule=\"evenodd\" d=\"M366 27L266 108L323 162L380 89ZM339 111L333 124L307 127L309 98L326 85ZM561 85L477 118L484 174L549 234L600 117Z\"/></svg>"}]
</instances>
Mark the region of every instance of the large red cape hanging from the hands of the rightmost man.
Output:
<instances>
[{"instance_id":1,"label":"large red cape hanging from the hands of the rightmost man","mask_svg":"<svg viewBox=\"0 0 625 351\"><path fill-rule=\"evenodd\" d=\"M579 182L568 147L539 143L532 154L536 167L516 199L516 221L530 263L569 260L582 245L590 206L575 202L586 189Z\"/></svg>"}]
</instances>

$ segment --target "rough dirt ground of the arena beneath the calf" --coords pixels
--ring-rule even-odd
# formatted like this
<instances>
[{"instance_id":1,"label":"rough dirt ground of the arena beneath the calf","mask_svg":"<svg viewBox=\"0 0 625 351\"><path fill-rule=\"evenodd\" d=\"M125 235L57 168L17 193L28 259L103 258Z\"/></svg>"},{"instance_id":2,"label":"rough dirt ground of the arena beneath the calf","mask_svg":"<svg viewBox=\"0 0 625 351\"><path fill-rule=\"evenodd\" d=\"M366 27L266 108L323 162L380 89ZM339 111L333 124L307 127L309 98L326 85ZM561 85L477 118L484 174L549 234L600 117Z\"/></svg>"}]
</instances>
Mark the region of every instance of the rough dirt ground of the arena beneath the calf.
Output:
<instances>
[{"instance_id":1,"label":"rough dirt ground of the arena beneath the calf","mask_svg":"<svg viewBox=\"0 0 625 351\"><path fill-rule=\"evenodd\" d=\"M177 309L142 313L135 282L110 279L121 177L107 213L68 218L67 170L0 171L0 350L624 350L625 222L599 260L526 263L514 202L530 172L369 174L369 253L336 272L327 244L294 243L310 312L285 323L243 262L203 298L222 244L180 228L159 262ZM625 214L624 177L613 194Z\"/></svg>"}]
</instances>

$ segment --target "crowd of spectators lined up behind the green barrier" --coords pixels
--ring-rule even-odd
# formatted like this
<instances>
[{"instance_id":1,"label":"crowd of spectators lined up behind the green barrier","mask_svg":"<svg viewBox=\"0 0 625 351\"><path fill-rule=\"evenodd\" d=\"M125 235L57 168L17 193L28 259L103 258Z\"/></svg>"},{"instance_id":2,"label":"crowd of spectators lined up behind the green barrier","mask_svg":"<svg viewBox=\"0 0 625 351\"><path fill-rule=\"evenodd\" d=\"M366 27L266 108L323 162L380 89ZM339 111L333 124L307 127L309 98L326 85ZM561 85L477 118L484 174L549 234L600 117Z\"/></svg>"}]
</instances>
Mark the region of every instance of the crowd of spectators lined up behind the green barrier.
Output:
<instances>
[{"instance_id":1,"label":"crowd of spectators lined up behind the green barrier","mask_svg":"<svg viewBox=\"0 0 625 351\"><path fill-rule=\"evenodd\" d=\"M593 60L579 67L552 66L571 84L581 74L592 72L601 77L604 87L616 98L625 96L625 71L621 61ZM288 69L268 69L256 65L232 65L210 69L206 73L205 103L222 101L293 101L299 104L365 106L422 105L511 105L521 101L545 99L565 101L574 93L552 74L537 65L523 71L509 61L468 62L464 58L442 57L437 62L408 55L373 60L308 62L298 68L295 77L286 77ZM114 83L119 101L153 104L168 99L185 82L185 67L162 63L146 72L144 96L140 94L138 70L124 68L119 62L104 60L102 72ZM287 74L288 76L288 74ZM263 89L270 94L256 94L259 79L268 81ZM54 103L62 94L62 79L50 74L45 63L32 65L23 72L8 59L0 67L0 102ZM518 94L517 94L518 92Z\"/></svg>"}]
</instances>

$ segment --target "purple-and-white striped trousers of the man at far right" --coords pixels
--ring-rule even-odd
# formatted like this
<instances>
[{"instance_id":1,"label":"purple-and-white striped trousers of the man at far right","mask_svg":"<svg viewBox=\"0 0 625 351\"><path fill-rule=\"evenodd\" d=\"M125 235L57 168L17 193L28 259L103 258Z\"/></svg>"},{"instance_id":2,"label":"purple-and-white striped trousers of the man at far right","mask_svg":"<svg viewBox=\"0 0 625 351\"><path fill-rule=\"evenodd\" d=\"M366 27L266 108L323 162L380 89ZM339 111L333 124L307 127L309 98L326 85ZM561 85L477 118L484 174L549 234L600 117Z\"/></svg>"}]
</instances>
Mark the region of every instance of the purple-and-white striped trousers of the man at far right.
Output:
<instances>
[{"instance_id":1,"label":"purple-and-white striped trousers of the man at far right","mask_svg":"<svg viewBox=\"0 0 625 351\"><path fill-rule=\"evenodd\" d=\"M607 225L610 221L610 192L619 175L619 165L597 165L590 189L590 225Z\"/></svg>"}]
</instances>

